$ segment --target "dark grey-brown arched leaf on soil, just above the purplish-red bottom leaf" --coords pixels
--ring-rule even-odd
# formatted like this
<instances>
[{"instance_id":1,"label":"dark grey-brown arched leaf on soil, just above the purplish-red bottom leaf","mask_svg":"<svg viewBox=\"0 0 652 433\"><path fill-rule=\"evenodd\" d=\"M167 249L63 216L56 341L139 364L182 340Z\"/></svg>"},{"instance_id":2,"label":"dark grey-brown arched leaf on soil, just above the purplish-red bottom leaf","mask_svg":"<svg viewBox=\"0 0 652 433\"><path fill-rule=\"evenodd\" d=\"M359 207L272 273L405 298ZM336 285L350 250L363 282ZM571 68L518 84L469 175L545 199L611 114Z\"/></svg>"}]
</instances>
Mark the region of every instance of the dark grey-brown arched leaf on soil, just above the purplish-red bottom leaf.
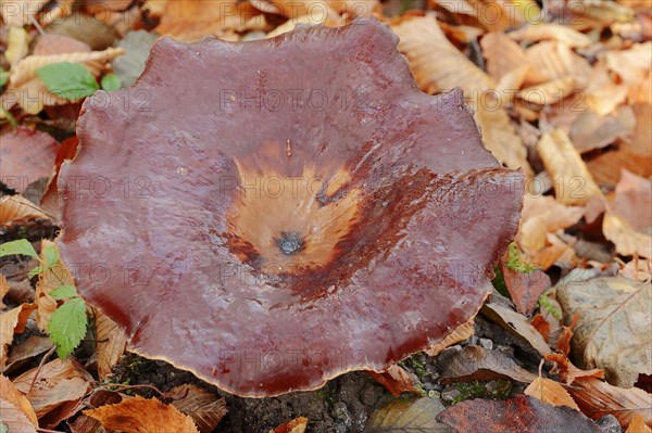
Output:
<instances>
[{"instance_id":1,"label":"dark grey-brown arched leaf on soil, just above the purplish-red bottom leaf","mask_svg":"<svg viewBox=\"0 0 652 433\"><path fill-rule=\"evenodd\" d=\"M466 346L447 362L440 382L450 384L505 378L529 383L537 379L537 375L519 367L502 352Z\"/></svg>"}]
</instances>

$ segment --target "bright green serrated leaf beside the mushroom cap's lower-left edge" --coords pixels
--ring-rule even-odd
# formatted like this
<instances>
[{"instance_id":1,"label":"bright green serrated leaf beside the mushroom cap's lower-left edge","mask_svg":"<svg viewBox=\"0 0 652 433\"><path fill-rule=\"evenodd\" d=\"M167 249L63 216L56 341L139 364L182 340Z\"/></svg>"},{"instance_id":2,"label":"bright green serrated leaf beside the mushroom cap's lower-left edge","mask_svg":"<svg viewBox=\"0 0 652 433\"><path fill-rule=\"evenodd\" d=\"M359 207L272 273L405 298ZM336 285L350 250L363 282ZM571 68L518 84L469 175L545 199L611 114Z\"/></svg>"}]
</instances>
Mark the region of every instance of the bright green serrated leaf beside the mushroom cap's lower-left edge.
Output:
<instances>
[{"instance_id":1,"label":"bright green serrated leaf beside the mushroom cap's lower-left edge","mask_svg":"<svg viewBox=\"0 0 652 433\"><path fill-rule=\"evenodd\" d=\"M86 335L86 304L80 297L63 303L52 314L48 322L50 340L57 344L57 355L61 359L67 356L82 343Z\"/></svg>"}]
</instances>

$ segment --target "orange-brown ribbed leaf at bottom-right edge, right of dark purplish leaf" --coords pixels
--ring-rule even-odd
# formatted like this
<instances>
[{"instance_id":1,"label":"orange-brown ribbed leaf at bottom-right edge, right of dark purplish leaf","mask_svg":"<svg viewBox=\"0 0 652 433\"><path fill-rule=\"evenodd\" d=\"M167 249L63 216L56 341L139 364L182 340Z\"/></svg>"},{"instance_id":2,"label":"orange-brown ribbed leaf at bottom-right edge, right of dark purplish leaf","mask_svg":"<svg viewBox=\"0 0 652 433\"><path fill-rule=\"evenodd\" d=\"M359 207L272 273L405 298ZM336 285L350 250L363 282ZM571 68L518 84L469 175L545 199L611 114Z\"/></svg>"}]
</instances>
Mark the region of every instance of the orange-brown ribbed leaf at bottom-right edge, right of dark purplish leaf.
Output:
<instances>
[{"instance_id":1,"label":"orange-brown ribbed leaf at bottom-right edge, right of dark purplish leaf","mask_svg":"<svg viewBox=\"0 0 652 433\"><path fill-rule=\"evenodd\" d=\"M638 415L645 424L652 424L652 394L641 389L622 389L595 378L577 378L568 393L581 411L594 420L613 415L627 428Z\"/></svg>"}]
</instances>

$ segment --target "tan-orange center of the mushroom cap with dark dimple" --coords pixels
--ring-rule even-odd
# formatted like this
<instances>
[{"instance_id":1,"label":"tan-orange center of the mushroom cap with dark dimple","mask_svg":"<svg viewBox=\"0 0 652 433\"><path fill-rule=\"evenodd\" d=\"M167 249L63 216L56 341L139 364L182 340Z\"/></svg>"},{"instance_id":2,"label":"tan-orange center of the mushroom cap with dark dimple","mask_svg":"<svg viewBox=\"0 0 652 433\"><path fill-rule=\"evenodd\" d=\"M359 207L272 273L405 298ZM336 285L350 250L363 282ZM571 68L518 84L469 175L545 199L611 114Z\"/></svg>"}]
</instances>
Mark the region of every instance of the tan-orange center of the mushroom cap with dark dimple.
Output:
<instances>
[{"instance_id":1,"label":"tan-orange center of the mushroom cap with dark dimple","mask_svg":"<svg viewBox=\"0 0 652 433\"><path fill-rule=\"evenodd\" d=\"M248 170L236 162L240 191L227 212L229 249L263 273L318 269L338 255L337 244L359 219L359 190L344 169L300 176Z\"/></svg>"}]
</instances>

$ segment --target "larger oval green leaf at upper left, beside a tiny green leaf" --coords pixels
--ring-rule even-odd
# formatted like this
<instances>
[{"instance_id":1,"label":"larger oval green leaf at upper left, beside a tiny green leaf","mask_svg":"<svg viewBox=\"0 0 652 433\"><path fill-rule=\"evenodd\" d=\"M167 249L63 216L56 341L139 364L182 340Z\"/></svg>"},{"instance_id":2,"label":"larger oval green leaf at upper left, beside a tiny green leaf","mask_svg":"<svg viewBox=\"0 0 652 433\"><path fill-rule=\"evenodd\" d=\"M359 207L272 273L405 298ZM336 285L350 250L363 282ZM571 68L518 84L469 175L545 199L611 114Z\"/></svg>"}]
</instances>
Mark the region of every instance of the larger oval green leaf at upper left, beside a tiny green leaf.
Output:
<instances>
[{"instance_id":1,"label":"larger oval green leaf at upper left, beside a tiny green leaf","mask_svg":"<svg viewBox=\"0 0 652 433\"><path fill-rule=\"evenodd\" d=\"M48 90L68 101L90 97L99 89L93 75L78 63L52 63L36 69L36 75Z\"/></svg>"}]
</instances>

